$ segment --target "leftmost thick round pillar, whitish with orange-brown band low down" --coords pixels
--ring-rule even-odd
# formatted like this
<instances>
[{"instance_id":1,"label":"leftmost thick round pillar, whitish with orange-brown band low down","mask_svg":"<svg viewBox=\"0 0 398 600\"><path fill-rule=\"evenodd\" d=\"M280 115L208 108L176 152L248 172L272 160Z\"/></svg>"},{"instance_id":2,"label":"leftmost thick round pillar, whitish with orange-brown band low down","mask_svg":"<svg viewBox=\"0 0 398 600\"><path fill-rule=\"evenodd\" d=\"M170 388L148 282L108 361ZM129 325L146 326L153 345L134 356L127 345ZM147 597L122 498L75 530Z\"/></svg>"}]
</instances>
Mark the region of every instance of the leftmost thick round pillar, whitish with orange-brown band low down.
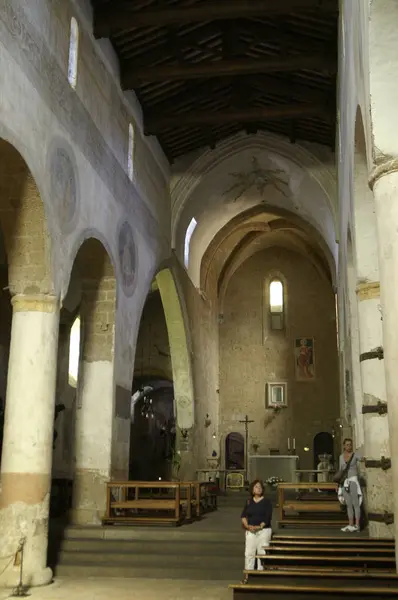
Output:
<instances>
[{"instance_id":1,"label":"leftmost thick round pillar, whitish with orange-brown band low down","mask_svg":"<svg viewBox=\"0 0 398 600\"><path fill-rule=\"evenodd\" d=\"M48 515L59 307L54 296L17 295L13 317L1 462L0 582L16 585L13 555L25 538L24 584L51 581Z\"/></svg>"}]
</instances>

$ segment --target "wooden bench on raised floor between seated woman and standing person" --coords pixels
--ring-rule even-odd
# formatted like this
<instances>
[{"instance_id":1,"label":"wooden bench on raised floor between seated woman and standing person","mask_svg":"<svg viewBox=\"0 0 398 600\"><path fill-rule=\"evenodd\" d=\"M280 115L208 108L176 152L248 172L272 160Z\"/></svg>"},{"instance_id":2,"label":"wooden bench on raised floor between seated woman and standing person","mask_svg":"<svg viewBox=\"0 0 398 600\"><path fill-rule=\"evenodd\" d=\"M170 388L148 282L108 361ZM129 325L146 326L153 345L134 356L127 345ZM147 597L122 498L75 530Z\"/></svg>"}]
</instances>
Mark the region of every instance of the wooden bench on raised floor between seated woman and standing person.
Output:
<instances>
[{"instance_id":1,"label":"wooden bench on raised floor between seated woman and standing person","mask_svg":"<svg viewBox=\"0 0 398 600\"><path fill-rule=\"evenodd\" d=\"M321 490L326 496L316 496L314 500L303 500L300 495L295 499L286 499L286 492L302 492ZM336 493L334 499L329 495ZM347 519L342 514L341 505L337 498L336 484L332 482L305 482L278 484L279 527L286 525L345 525ZM289 515L288 512L296 513ZM305 514L303 518L301 515Z\"/></svg>"}]
</instances>

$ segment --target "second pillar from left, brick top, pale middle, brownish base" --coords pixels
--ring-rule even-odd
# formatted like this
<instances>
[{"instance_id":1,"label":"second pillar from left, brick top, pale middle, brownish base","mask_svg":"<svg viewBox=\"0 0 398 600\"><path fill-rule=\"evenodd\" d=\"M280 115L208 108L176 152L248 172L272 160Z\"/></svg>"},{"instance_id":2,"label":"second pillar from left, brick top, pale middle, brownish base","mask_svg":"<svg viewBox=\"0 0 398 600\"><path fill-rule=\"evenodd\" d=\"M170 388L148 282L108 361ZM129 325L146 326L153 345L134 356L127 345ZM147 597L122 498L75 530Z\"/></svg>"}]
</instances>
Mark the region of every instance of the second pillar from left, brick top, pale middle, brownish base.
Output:
<instances>
[{"instance_id":1,"label":"second pillar from left, brick top, pale middle, brownish base","mask_svg":"<svg viewBox=\"0 0 398 600\"><path fill-rule=\"evenodd\" d=\"M76 471L72 521L98 525L111 478L114 414L114 277L85 281L76 411Z\"/></svg>"}]
</instances>

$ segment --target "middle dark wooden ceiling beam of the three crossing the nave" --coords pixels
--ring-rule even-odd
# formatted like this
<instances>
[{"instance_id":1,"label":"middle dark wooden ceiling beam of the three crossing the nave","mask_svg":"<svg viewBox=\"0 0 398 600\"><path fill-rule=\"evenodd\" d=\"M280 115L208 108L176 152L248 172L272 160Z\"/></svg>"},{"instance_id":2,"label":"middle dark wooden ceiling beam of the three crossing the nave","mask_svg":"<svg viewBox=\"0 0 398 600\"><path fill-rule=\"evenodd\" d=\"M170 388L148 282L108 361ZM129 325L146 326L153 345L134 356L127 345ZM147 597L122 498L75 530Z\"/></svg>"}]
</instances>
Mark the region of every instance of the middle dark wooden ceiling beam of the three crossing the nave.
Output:
<instances>
[{"instance_id":1,"label":"middle dark wooden ceiling beam of the three crossing the nave","mask_svg":"<svg viewBox=\"0 0 398 600\"><path fill-rule=\"evenodd\" d=\"M131 64L130 61L123 61L121 64L121 80L123 89L128 90L133 89L143 81L236 77L258 73L300 71L302 69L332 74L336 71L337 64L333 57L320 55L203 61L185 65L166 64L140 68L134 68L134 62Z\"/></svg>"}]
</instances>

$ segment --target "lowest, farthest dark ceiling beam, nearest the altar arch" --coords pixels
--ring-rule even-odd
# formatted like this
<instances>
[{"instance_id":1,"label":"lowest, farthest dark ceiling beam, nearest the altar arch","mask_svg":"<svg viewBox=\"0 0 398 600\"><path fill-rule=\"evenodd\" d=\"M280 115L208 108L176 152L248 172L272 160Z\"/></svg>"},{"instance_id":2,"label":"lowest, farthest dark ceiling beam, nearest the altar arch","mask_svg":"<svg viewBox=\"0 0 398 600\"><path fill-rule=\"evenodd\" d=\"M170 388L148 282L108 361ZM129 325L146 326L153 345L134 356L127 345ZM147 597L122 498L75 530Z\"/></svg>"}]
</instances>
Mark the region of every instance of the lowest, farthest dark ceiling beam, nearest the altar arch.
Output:
<instances>
[{"instance_id":1,"label":"lowest, farthest dark ceiling beam, nearest the altar arch","mask_svg":"<svg viewBox=\"0 0 398 600\"><path fill-rule=\"evenodd\" d=\"M178 127L202 127L224 123L250 123L263 120L303 118L308 115L326 115L324 106L314 104L292 104L285 106L257 106L240 110L190 111L176 115L153 114L144 119L147 135L156 135L165 129Z\"/></svg>"}]
</instances>

